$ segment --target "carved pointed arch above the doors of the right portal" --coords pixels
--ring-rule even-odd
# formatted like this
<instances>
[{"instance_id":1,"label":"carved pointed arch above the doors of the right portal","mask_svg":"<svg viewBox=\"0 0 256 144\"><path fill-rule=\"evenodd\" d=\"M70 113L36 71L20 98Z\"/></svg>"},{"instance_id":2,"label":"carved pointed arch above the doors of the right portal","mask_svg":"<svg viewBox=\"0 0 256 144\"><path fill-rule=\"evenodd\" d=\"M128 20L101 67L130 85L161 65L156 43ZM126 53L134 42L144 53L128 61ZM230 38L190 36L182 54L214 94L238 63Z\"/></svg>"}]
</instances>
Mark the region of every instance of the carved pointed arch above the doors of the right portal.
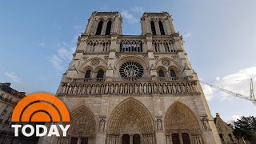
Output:
<instances>
[{"instance_id":1,"label":"carved pointed arch above the doors of the right portal","mask_svg":"<svg viewBox=\"0 0 256 144\"><path fill-rule=\"evenodd\" d=\"M188 106L174 102L167 110L164 122L167 134L177 130L186 130L190 134L201 134L197 118Z\"/></svg>"}]
</instances>

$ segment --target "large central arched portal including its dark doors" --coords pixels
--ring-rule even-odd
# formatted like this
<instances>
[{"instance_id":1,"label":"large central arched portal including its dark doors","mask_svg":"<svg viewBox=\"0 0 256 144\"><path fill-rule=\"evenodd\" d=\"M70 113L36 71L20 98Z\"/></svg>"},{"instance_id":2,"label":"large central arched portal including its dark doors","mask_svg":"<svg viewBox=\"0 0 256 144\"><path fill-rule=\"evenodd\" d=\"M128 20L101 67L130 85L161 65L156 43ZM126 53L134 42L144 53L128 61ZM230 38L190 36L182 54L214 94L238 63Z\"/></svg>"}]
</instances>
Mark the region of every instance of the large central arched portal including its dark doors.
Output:
<instances>
[{"instance_id":1,"label":"large central arched portal including its dark doors","mask_svg":"<svg viewBox=\"0 0 256 144\"><path fill-rule=\"evenodd\" d=\"M155 143L154 120L141 102L128 98L110 114L107 123L107 144Z\"/></svg>"}]
</instances>

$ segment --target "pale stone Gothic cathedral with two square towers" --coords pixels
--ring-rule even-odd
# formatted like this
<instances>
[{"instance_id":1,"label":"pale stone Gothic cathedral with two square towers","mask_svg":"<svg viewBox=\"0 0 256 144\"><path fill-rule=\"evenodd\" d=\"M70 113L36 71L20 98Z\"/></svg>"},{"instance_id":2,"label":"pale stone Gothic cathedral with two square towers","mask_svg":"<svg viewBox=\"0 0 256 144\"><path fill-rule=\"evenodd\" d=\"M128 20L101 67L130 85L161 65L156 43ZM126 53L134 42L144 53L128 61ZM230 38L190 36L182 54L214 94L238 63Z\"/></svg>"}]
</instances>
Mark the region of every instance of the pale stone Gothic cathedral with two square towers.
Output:
<instances>
[{"instance_id":1,"label":"pale stone Gothic cathedral with two square towers","mask_svg":"<svg viewBox=\"0 0 256 144\"><path fill-rule=\"evenodd\" d=\"M122 34L118 12L94 12L56 96L70 110L53 144L221 143L170 14L144 13L141 35Z\"/></svg>"}]
</instances>

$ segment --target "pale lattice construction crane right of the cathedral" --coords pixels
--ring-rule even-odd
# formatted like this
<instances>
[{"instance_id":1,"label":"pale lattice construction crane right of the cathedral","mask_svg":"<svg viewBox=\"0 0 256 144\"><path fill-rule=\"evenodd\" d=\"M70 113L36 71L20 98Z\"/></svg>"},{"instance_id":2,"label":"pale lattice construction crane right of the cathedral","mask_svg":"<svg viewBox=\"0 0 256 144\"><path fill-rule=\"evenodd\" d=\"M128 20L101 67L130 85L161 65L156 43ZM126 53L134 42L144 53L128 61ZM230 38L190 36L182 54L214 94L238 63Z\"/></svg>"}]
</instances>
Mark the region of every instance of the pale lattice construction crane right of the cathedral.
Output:
<instances>
[{"instance_id":1,"label":"pale lattice construction crane right of the cathedral","mask_svg":"<svg viewBox=\"0 0 256 144\"><path fill-rule=\"evenodd\" d=\"M202 81L200 81L200 82L202 82ZM242 99L249 100L249 101L253 102L254 105L256 106L256 99L254 97L254 83L253 83L253 79L252 78L250 79L250 96L249 97L248 96L244 96L242 94L235 93L235 92L230 91L230 90L223 89L223 88L221 88L219 86L214 86L214 85L212 85L210 83L207 83L207 82L202 82L202 83L206 84L207 86L210 86L210 87L214 88L215 90L220 90L220 91L222 91L222 92L224 92L226 94L233 95L233 96L235 96L237 98L242 98Z\"/></svg>"}]
</instances>

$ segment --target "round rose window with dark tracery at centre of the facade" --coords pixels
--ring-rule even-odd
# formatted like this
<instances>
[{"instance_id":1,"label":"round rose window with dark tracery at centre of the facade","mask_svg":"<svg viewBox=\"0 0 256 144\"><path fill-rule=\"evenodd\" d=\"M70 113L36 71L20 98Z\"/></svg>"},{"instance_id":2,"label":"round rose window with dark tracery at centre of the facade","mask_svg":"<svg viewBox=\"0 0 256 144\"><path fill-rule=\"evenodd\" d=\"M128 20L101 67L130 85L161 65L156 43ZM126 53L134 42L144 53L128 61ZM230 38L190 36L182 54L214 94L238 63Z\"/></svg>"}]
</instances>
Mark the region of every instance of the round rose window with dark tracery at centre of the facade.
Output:
<instances>
[{"instance_id":1,"label":"round rose window with dark tracery at centre of the facade","mask_svg":"<svg viewBox=\"0 0 256 144\"><path fill-rule=\"evenodd\" d=\"M123 78L139 78L143 75L143 67L138 62L125 62L120 66L119 73Z\"/></svg>"}]
</instances>

